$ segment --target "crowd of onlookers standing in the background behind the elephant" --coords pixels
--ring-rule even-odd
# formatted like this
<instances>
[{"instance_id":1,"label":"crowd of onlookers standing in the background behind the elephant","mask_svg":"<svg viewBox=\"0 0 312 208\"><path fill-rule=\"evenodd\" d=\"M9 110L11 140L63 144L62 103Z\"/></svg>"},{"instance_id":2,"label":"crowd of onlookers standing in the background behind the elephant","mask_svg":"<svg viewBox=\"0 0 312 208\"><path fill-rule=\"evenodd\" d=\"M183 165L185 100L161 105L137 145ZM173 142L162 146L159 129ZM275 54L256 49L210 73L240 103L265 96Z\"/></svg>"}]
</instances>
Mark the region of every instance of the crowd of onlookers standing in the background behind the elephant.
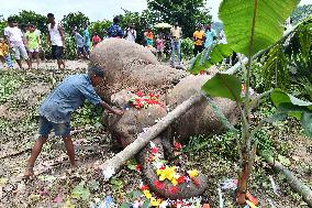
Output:
<instances>
[{"instance_id":1,"label":"crowd of onlookers standing in the background behind the elephant","mask_svg":"<svg viewBox=\"0 0 312 208\"><path fill-rule=\"evenodd\" d=\"M57 61L58 69L65 68L65 31L62 24L57 23L54 14L47 14L48 33L47 43L52 48L52 57ZM160 30L161 31L161 30ZM154 34L151 26L143 32L143 45L155 53L158 61L164 59L164 54L170 57L171 66L181 64L181 39L182 29L176 22L168 33L158 32ZM73 29L71 35L75 39L77 57L89 59L91 48L96 47L101 41L110 37L125 39L131 42L137 42L137 32L134 24L129 24L124 30L120 26L120 19L115 17L112 25L103 31L103 34L94 32L90 36L88 24L83 25L80 34L77 29ZM224 35L223 35L224 36ZM5 39L4 39L5 37ZM35 24L30 23L19 29L18 22L13 18L8 19L8 26L4 29L4 37L0 36L0 61L8 68L13 68L13 62L10 54L13 55L18 66L22 68L22 59L27 64L27 68L33 68L33 61L36 61L36 68L40 67L38 53L42 48L41 31ZM205 47L212 45L218 35L211 25L198 25L193 33L193 56L202 52ZM1 68L1 67L0 67Z\"/></svg>"}]
</instances>

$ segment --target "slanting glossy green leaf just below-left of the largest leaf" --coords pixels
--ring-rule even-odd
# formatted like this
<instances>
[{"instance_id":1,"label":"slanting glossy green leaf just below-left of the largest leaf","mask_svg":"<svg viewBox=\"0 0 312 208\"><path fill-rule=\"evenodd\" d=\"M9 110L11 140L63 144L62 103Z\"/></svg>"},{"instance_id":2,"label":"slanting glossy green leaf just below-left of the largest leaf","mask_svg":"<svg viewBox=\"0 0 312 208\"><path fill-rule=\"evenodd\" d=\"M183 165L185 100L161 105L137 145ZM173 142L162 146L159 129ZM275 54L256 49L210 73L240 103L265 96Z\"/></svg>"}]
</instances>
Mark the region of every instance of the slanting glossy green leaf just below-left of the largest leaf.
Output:
<instances>
[{"instance_id":1,"label":"slanting glossy green leaf just below-left of the largest leaf","mask_svg":"<svg viewBox=\"0 0 312 208\"><path fill-rule=\"evenodd\" d=\"M213 44L192 59L189 70L197 75L201 70L207 70L212 65L223 61L225 57L229 57L232 53L233 50L229 44Z\"/></svg>"}]
</instances>

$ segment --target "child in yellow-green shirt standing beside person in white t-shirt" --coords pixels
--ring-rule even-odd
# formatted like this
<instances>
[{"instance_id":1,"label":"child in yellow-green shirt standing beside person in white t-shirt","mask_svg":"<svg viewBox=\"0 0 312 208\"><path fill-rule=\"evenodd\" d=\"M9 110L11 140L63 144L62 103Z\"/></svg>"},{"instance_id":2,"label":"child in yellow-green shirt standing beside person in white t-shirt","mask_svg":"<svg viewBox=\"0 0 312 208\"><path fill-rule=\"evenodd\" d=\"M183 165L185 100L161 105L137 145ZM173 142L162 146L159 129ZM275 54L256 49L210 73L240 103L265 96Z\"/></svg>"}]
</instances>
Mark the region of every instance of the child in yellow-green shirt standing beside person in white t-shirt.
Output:
<instances>
[{"instance_id":1,"label":"child in yellow-green shirt standing beside person in white t-shirt","mask_svg":"<svg viewBox=\"0 0 312 208\"><path fill-rule=\"evenodd\" d=\"M37 62L37 68L40 65L40 58L38 58L38 50L40 50L40 33L36 32L36 28L34 24L30 24L30 30L25 34L26 36L26 45L29 47L29 57L31 62L31 68L33 63L33 57L36 58Z\"/></svg>"}]
</instances>

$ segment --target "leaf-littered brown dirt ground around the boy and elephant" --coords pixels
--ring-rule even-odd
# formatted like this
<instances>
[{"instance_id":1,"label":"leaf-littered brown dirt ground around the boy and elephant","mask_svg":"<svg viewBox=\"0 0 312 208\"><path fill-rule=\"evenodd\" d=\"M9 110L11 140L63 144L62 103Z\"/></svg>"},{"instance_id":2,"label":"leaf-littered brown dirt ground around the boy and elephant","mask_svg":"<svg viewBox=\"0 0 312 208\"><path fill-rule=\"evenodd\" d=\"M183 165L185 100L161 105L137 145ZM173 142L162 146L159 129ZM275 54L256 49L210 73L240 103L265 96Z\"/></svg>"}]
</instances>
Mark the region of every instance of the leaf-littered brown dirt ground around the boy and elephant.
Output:
<instances>
[{"instance_id":1,"label":"leaf-littered brown dirt ground around the boy and elephant","mask_svg":"<svg viewBox=\"0 0 312 208\"><path fill-rule=\"evenodd\" d=\"M121 205L132 200L129 193L137 189L143 179L127 165L110 182L103 182L97 166L119 150L104 125L83 123L82 110L75 116L78 124L73 129L78 130L73 134L78 168L70 169L63 141L52 136L35 164L36 177L22 179L25 162L36 140L38 105L66 75L86 72L88 63L68 61L66 65L66 70L55 74L54 62L42 63L38 70L0 72L0 76L13 77L18 83L12 95L0 102L0 208L97 207L96 204L107 196L112 196ZM80 120L82 124L79 124ZM276 145L283 149L288 158L285 164L312 187L312 141L301 135L298 129L290 128L288 132L291 133L285 136L277 131ZM236 178L237 154L231 149L231 141L224 146L220 136L214 138L200 151L185 156L190 168L198 168L209 176L209 189L202 198L212 208L220 206L220 182ZM260 157L256 160L249 191L260 201L258 207L308 207L282 175L274 173ZM224 207L236 207L232 191L224 193L223 199Z\"/></svg>"}]
</instances>

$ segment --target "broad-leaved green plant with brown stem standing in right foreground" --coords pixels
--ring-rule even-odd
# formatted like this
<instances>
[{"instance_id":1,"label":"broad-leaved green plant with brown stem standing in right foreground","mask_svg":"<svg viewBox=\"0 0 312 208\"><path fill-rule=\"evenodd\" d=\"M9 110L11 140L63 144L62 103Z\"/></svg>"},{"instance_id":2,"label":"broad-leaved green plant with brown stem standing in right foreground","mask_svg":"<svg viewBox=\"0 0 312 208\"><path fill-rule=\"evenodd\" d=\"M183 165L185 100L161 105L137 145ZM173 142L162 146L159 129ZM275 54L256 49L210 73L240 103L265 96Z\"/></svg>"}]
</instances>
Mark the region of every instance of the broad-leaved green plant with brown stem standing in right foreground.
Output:
<instances>
[{"instance_id":1,"label":"broad-leaved green plant with brown stem standing in right foreground","mask_svg":"<svg viewBox=\"0 0 312 208\"><path fill-rule=\"evenodd\" d=\"M253 57L261 50L270 47L281 37L283 31L282 23L298 3L299 0L253 0L244 1L243 6L235 0L223 0L219 15L224 23L229 45L216 45L214 48L205 50L194 59L191 67L193 72L207 68L216 63L218 59L221 59L223 55L227 55L231 50L248 57L246 66L242 63L244 69L242 78L237 78L234 75L218 74L202 87L202 90L208 96L223 97L236 101L241 113L242 134L241 136L237 135L241 157L241 172L238 173L236 191L238 204L245 204L246 201L247 182L257 152L255 133L261 129L264 123L283 119L287 114L293 116L302 121L307 134L312 136L312 102L299 100L279 89L270 89L254 98L250 97L249 92ZM242 80L246 86L243 92L241 90ZM241 96L242 94L243 96ZM261 98L268 95L271 96L274 103L277 106L277 112L270 118L265 118L259 123L252 124L249 120L252 109L256 107ZM230 129L237 132L234 127L224 120L222 114L219 113L219 116Z\"/></svg>"}]
</instances>

